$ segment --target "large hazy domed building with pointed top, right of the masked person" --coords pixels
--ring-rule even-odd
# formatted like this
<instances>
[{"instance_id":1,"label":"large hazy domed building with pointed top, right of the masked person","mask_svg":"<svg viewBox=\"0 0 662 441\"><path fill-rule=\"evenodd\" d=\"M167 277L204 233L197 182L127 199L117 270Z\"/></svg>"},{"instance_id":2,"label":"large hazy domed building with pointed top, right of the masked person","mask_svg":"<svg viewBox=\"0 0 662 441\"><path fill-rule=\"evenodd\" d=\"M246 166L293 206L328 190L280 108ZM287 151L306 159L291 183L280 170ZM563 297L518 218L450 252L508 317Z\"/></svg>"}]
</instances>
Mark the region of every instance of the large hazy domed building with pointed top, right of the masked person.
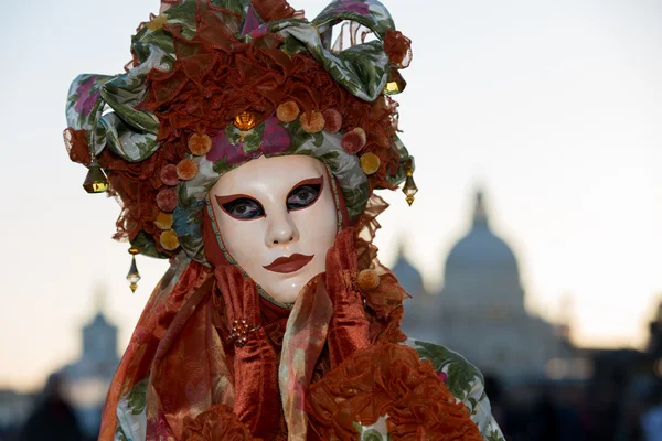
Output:
<instances>
[{"instance_id":1,"label":"large hazy domed building with pointed top, right of the masked person","mask_svg":"<svg viewBox=\"0 0 662 441\"><path fill-rule=\"evenodd\" d=\"M506 380L544 377L551 359L568 356L556 326L525 310L517 259L491 229L482 192L469 232L448 255L440 292L409 291L415 271L401 252L394 272L413 295L403 320L412 337L441 343Z\"/></svg>"}]
</instances>

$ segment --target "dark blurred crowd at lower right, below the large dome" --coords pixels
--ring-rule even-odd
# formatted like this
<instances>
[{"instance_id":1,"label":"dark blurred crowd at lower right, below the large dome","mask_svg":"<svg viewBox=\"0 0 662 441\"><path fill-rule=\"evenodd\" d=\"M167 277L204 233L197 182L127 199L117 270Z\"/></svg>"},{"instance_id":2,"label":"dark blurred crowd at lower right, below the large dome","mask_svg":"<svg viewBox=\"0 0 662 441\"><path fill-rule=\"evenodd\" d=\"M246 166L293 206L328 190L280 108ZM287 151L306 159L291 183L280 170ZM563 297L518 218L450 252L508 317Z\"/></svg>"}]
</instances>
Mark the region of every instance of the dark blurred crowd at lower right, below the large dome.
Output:
<instances>
[{"instance_id":1,"label":"dark blurred crowd at lower right, below the large dome","mask_svg":"<svg viewBox=\"0 0 662 441\"><path fill-rule=\"evenodd\" d=\"M509 441L662 441L662 380L545 383L504 391L487 376L492 413Z\"/></svg>"}]
</instances>

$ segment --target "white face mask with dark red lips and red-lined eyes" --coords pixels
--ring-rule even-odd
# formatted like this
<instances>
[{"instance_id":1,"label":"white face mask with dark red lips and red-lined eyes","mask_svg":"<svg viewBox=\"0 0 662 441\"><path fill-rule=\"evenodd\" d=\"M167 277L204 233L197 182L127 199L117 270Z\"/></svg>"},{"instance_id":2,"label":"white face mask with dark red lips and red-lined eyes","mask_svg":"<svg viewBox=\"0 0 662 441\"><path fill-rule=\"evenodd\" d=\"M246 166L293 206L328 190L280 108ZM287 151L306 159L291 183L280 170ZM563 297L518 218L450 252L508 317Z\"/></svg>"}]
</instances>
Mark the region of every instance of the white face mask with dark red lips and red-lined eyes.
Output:
<instances>
[{"instance_id":1,"label":"white face mask with dark red lips and red-lined eyes","mask_svg":"<svg viewBox=\"0 0 662 441\"><path fill-rule=\"evenodd\" d=\"M319 160L260 157L221 176L210 201L228 254L276 301L324 272L338 215Z\"/></svg>"}]
</instances>

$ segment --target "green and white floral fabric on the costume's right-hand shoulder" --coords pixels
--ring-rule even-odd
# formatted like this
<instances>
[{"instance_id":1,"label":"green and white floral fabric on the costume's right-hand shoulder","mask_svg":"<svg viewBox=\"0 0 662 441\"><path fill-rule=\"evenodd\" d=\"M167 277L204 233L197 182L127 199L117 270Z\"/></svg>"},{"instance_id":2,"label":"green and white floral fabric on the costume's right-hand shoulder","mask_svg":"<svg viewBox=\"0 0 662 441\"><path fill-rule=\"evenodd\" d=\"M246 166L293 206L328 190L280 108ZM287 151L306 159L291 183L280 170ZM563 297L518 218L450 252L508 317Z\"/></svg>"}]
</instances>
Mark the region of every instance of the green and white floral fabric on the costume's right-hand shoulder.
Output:
<instances>
[{"instance_id":1,"label":"green and white floral fabric on the costume's right-hand shoulder","mask_svg":"<svg viewBox=\"0 0 662 441\"><path fill-rule=\"evenodd\" d=\"M496 420L492 417L484 378L476 366L457 352L441 345L412 338L404 344L414 348L420 359L430 361L448 390L458 401L465 404L483 440L505 441Z\"/></svg>"}]
</instances>

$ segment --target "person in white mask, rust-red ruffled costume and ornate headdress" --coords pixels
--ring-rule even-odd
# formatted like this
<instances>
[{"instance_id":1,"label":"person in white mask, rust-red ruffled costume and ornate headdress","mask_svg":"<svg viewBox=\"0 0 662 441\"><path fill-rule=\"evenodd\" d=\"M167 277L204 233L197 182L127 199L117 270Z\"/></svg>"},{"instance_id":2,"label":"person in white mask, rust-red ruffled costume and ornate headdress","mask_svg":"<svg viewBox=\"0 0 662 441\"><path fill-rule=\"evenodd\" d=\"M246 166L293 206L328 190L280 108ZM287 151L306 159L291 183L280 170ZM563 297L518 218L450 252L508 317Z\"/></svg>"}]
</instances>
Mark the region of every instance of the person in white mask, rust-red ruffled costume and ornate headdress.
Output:
<instances>
[{"instance_id":1,"label":"person in white mask, rust-red ruffled costume and ornate headdress","mask_svg":"<svg viewBox=\"0 0 662 441\"><path fill-rule=\"evenodd\" d=\"M171 261L99 439L502 440L480 373L401 332L407 294L372 245L374 190L416 192L387 10L163 1L131 49L66 109L84 186L121 204L116 238Z\"/></svg>"}]
</instances>

